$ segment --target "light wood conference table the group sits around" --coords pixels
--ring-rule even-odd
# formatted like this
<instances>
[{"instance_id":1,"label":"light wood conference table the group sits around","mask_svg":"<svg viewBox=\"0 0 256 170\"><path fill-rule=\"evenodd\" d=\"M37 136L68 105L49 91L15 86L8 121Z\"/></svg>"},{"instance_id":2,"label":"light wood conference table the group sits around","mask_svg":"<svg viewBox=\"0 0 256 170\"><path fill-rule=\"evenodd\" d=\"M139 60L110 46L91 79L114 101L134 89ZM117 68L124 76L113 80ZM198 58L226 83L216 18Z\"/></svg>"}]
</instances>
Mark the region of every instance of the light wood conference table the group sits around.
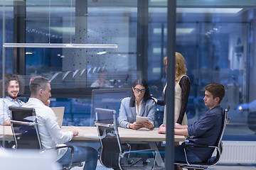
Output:
<instances>
[{"instance_id":1,"label":"light wood conference table the group sits around","mask_svg":"<svg viewBox=\"0 0 256 170\"><path fill-rule=\"evenodd\" d=\"M75 128L78 130L78 136L73 137L73 141L93 141L100 142L97 128L90 126L63 126L61 129L63 131L69 131ZM165 134L159 134L158 128L154 128L154 130L147 130L146 128L142 128L139 130L118 128L119 138L121 142L147 142L149 143L149 147L158 151L158 147L156 142L164 142L166 140ZM14 140L13 133L11 131L11 126L2 126L0 125L0 139L5 140ZM184 136L174 135L175 145L178 145L178 142L183 142L185 140ZM159 152L156 152L156 164L159 166L164 166L164 162L161 159L161 155Z\"/></svg>"}]
</instances>

